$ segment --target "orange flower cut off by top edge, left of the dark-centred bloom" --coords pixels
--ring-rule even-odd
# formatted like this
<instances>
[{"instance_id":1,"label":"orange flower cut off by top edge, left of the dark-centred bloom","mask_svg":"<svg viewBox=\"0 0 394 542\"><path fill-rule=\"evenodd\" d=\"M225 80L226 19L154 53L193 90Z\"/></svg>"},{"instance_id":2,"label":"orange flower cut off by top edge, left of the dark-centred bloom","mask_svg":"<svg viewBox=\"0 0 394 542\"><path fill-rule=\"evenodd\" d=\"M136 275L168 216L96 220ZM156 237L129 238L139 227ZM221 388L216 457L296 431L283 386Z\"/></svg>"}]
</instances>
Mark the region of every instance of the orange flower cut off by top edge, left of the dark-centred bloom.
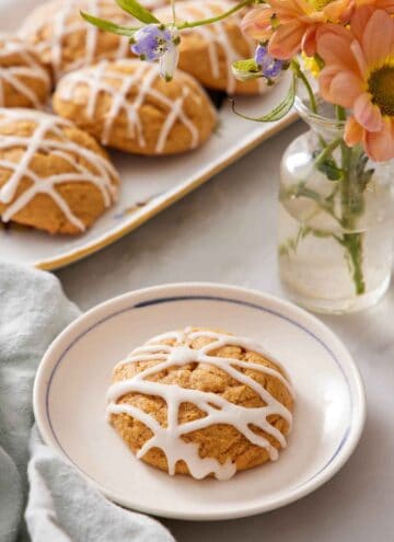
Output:
<instances>
[{"instance_id":1,"label":"orange flower cut off by top edge, left of the dark-centred bloom","mask_svg":"<svg viewBox=\"0 0 394 542\"><path fill-rule=\"evenodd\" d=\"M317 28L327 22L348 20L354 1L268 0L269 7L263 5L246 13L242 30L254 39L269 39L268 50L275 58L287 60L300 50L313 56Z\"/></svg>"}]
</instances>

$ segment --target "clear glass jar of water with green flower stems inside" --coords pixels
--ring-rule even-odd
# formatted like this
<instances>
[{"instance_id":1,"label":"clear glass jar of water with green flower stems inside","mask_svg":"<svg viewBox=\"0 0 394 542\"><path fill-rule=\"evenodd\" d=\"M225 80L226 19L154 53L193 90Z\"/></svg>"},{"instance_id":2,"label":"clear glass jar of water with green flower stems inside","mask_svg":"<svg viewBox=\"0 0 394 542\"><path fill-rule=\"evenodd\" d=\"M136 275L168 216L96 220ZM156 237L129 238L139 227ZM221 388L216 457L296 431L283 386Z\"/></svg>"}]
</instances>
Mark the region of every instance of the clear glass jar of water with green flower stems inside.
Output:
<instances>
[{"instance_id":1,"label":"clear glass jar of water with green flower stems inside","mask_svg":"<svg viewBox=\"0 0 394 542\"><path fill-rule=\"evenodd\" d=\"M346 313L376 303L393 261L391 163L346 146L344 123L313 114L290 143L280 171L278 260L282 285L315 312Z\"/></svg>"}]
</instances>

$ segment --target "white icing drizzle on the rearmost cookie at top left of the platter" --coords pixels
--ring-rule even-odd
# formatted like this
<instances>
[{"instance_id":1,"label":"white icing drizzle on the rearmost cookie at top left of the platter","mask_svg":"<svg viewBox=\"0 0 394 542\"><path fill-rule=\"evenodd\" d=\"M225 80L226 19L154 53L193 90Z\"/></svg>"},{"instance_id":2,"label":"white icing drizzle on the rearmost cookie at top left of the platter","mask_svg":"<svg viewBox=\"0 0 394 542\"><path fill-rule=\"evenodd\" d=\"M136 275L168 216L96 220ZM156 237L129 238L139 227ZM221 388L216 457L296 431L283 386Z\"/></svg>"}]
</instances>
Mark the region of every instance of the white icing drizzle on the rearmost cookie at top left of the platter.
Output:
<instances>
[{"instance_id":1,"label":"white icing drizzle on the rearmost cookie at top left of the platter","mask_svg":"<svg viewBox=\"0 0 394 542\"><path fill-rule=\"evenodd\" d=\"M25 37L26 35L34 36L50 23L53 24L53 35L48 39L40 39L39 43L36 44L36 49L40 54L49 49L50 64L54 69L55 79L58 80L63 71L77 70L83 66L89 66L101 58L124 58L128 56L129 42L126 36L118 36L119 44L116 50L111 50L109 54L108 51L103 51L99 55L96 49L100 33L102 31L92 24L88 24L79 14L80 9L83 9L91 15L104 16L103 7L112 4L115 5L115 0L66 0L58 2L58 9L54 13L53 22L48 21L45 16L46 4L44 4L39 11L40 16L38 16L38 13L34 13L31 19L27 19L20 31L20 35L21 37ZM70 22L70 18L76 18L76 21ZM114 18L112 19L114 20ZM125 14L125 21L126 20L127 15ZM68 36L79 32L85 33L85 48L83 55L82 57L76 58L74 61L68 64L66 67L62 67L63 42Z\"/></svg>"}]
</instances>

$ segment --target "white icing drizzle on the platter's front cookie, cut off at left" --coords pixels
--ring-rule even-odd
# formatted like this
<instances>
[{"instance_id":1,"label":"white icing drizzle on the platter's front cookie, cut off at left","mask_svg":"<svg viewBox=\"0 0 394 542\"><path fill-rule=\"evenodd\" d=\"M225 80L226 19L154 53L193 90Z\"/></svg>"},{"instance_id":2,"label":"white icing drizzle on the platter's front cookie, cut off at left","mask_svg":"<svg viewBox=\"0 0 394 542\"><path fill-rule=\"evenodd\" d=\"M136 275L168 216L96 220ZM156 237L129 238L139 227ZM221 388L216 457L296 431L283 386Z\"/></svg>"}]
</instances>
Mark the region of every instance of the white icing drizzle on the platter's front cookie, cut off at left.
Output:
<instances>
[{"instance_id":1,"label":"white icing drizzle on the platter's front cookie, cut off at left","mask_svg":"<svg viewBox=\"0 0 394 542\"><path fill-rule=\"evenodd\" d=\"M15 147L24 149L23 157L18 162L0 159L0 169L11 172L9 180L0 188L0 201L8 205L1 215L2 221L10 221L37 194L46 194L61 209L69 222L80 231L84 231L84 223L72 212L56 187L62 183L91 183L100 189L104 205L108 207L116 199L117 194L114 181L118 176L115 169L104 157L69 140L65 136L62 128L72 126L68 120L33 109L0 109L0 129L10 123L23 120L34 123L35 127L31 136L1 134L0 137L0 150L7 151ZM42 177L30 166L36 152L61 157L73 166L74 171L54 173ZM92 166L92 171L77 161L73 154L84 159ZM31 186L16 196L23 178L31 181Z\"/></svg>"}]
</instances>

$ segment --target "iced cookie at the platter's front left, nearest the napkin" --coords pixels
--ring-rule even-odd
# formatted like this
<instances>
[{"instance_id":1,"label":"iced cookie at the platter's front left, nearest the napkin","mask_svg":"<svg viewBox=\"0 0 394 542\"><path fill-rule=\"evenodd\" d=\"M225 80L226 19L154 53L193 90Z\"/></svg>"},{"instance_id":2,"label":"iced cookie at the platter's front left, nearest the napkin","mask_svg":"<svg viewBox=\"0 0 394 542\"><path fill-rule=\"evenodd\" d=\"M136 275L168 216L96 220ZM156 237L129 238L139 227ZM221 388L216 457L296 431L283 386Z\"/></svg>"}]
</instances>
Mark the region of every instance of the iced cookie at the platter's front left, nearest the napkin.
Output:
<instances>
[{"instance_id":1,"label":"iced cookie at the platter's front left, nearest the napkin","mask_svg":"<svg viewBox=\"0 0 394 542\"><path fill-rule=\"evenodd\" d=\"M70 122L0 108L0 216L50 233L80 233L117 196L105 152Z\"/></svg>"}]
</instances>

